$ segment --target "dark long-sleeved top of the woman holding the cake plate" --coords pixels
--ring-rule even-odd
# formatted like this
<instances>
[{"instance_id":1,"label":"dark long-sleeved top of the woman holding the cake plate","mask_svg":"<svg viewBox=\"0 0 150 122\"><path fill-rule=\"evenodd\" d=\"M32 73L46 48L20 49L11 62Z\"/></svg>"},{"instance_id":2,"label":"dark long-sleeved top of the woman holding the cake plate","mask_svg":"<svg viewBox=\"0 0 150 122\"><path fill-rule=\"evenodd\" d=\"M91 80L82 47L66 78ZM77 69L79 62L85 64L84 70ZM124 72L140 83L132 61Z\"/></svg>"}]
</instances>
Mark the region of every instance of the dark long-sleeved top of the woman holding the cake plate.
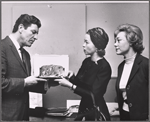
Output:
<instances>
[{"instance_id":1,"label":"dark long-sleeved top of the woman holding the cake plate","mask_svg":"<svg viewBox=\"0 0 150 122\"><path fill-rule=\"evenodd\" d=\"M92 107L92 100L88 92L91 91L94 94L96 105L100 107L106 118L110 120L108 108L103 97L110 78L111 67L105 58L98 60L97 64L91 61L90 57L83 61L77 75L70 79L73 84L77 85L74 93L82 97L79 111Z\"/></svg>"}]
</instances>

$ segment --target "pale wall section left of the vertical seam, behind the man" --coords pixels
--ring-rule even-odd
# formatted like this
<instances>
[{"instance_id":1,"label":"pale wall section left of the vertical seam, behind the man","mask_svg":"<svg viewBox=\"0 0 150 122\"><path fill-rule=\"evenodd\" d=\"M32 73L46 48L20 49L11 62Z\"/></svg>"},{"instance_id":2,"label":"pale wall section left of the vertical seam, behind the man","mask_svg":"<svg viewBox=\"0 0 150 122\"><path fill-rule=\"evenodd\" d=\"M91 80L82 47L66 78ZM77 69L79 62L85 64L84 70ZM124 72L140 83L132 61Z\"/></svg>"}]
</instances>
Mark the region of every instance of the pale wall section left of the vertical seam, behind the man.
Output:
<instances>
[{"instance_id":1,"label":"pale wall section left of the vertical seam, behind the man","mask_svg":"<svg viewBox=\"0 0 150 122\"><path fill-rule=\"evenodd\" d=\"M11 33L20 14L33 14L40 18L42 27L39 30L38 40L31 48L26 48L31 57L34 54L69 55L70 69L78 71L85 58L82 50L85 5L9 3L2 6L2 13L5 12L6 14L2 14L2 38Z\"/></svg>"}]
</instances>

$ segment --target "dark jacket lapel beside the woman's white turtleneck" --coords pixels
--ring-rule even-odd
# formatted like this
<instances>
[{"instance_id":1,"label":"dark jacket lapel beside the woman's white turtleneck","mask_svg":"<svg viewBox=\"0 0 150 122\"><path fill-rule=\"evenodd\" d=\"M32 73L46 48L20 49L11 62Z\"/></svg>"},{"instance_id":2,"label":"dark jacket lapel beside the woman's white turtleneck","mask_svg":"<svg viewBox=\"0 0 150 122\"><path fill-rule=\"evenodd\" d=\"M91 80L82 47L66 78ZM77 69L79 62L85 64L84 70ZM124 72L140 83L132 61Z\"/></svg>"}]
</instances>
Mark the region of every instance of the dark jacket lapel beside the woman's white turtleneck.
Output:
<instances>
[{"instance_id":1,"label":"dark jacket lapel beside the woman's white turtleneck","mask_svg":"<svg viewBox=\"0 0 150 122\"><path fill-rule=\"evenodd\" d=\"M139 69L139 63L142 61L142 59L140 58L140 55L137 54L136 58L135 58L135 61L134 61L134 64L133 64L133 68L131 70L131 74L130 74L130 77L129 77L129 80L128 80L128 83L129 84L132 80L132 78L134 77L134 75L136 74L136 72L138 71Z\"/></svg>"}]
</instances>

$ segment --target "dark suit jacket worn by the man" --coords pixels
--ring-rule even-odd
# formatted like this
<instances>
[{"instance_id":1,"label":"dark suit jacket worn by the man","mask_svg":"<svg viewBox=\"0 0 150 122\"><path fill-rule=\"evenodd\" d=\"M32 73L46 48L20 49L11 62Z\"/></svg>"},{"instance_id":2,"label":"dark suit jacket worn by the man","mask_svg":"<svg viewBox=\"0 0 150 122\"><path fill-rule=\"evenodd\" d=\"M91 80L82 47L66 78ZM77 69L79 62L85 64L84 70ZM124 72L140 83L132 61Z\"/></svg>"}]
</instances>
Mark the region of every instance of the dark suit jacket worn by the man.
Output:
<instances>
[{"instance_id":1,"label":"dark suit jacket worn by the man","mask_svg":"<svg viewBox=\"0 0 150 122\"><path fill-rule=\"evenodd\" d=\"M29 120L29 91L46 93L44 83L24 87L24 78L30 76L30 55L25 51L26 69L11 39L1 41L2 120Z\"/></svg>"}]
</instances>

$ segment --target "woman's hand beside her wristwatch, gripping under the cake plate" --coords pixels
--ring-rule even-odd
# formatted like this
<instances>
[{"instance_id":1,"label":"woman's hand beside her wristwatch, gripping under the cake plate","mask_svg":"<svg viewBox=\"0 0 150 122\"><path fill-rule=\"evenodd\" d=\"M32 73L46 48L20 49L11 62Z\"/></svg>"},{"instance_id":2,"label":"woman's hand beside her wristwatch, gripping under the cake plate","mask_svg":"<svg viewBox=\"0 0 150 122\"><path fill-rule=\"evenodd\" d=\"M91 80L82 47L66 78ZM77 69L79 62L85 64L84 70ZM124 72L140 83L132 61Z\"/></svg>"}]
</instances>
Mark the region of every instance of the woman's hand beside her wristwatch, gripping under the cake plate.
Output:
<instances>
[{"instance_id":1,"label":"woman's hand beside her wristwatch, gripping under the cake plate","mask_svg":"<svg viewBox=\"0 0 150 122\"><path fill-rule=\"evenodd\" d=\"M68 87L68 88L71 88L72 87L72 83L71 82L69 82L67 79L65 79L65 78L62 78L62 79L55 79L54 81L57 81L57 82L59 82L59 84L61 85L61 86L64 86L64 87Z\"/></svg>"}]
</instances>

